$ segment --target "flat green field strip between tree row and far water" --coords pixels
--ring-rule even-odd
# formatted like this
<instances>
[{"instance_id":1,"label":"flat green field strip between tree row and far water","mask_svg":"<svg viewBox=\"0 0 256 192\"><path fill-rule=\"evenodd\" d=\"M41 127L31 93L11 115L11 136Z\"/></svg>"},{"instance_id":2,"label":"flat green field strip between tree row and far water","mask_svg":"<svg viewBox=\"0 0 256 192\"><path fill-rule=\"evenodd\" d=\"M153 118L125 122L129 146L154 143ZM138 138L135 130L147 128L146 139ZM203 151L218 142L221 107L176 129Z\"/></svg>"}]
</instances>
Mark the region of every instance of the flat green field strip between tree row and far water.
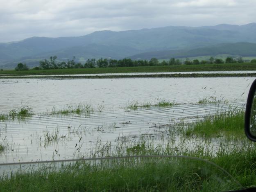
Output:
<instances>
[{"instance_id":1,"label":"flat green field strip between tree row and far water","mask_svg":"<svg viewBox=\"0 0 256 192\"><path fill-rule=\"evenodd\" d=\"M195 71L236 71L256 70L255 63L223 63L205 65L179 66L146 66L118 68L84 68L84 69L55 69L55 70L3 70L0 75L75 75L97 73L131 73L131 72L195 72Z\"/></svg>"}]
</instances>

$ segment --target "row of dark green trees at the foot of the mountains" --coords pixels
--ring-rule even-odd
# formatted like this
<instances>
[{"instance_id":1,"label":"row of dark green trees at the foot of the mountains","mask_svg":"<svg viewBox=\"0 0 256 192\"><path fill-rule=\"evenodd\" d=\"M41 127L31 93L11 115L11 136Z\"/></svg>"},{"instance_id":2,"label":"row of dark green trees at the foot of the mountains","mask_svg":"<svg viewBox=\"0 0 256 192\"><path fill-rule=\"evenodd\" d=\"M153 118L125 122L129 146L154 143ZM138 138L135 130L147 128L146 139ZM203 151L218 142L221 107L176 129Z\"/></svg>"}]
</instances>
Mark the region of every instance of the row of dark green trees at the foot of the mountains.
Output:
<instances>
[{"instance_id":1,"label":"row of dark green trees at the foot of the mountains","mask_svg":"<svg viewBox=\"0 0 256 192\"><path fill-rule=\"evenodd\" d=\"M75 61L75 57L68 61L57 62L57 56L51 56L50 59L44 59L39 61L39 66L34 69L72 69L72 68L106 68L106 67L137 67L137 66L173 66L173 65L199 65L199 64L220 64L220 63L243 63L242 57L239 57L237 60L232 57L227 57L224 60L222 59L214 59L211 57L209 60L199 61L198 59L194 59L190 61L186 59L186 61L182 62L180 59L172 58L169 61L159 61L156 58L148 60L131 60L128 58L125 59L87 59L87 61L82 64L80 62ZM256 59L252 59L251 63L256 63ZM28 70L26 64L18 63L15 70Z\"/></svg>"}]
</instances>

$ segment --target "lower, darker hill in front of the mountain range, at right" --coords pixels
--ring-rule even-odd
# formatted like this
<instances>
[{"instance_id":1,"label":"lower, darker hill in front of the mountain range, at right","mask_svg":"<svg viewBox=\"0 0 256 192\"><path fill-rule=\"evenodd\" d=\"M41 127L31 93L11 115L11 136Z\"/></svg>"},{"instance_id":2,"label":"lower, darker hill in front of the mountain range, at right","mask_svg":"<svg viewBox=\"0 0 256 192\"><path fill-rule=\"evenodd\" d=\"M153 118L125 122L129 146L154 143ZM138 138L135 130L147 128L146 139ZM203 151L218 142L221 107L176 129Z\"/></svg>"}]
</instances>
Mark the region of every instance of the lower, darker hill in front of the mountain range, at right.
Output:
<instances>
[{"instance_id":1,"label":"lower, darker hill in front of the mountain range, at right","mask_svg":"<svg viewBox=\"0 0 256 192\"><path fill-rule=\"evenodd\" d=\"M131 59L170 59L194 57L194 56L216 56L219 54L229 54L238 56L256 56L256 43L238 42L222 43L191 50L163 50L155 52L145 52L129 56Z\"/></svg>"}]
</instances>

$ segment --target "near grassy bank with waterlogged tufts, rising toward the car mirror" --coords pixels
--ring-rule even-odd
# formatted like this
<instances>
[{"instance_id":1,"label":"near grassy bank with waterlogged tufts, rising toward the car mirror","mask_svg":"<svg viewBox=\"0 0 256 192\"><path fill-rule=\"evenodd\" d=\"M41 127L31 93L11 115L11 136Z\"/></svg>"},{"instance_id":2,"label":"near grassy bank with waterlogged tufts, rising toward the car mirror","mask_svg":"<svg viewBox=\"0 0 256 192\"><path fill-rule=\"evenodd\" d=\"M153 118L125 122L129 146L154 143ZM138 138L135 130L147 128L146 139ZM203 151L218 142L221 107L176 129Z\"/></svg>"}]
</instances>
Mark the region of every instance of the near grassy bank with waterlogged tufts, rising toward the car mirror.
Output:
<instances>
[{"instance_id":1,"label":"near grassy bank with waterlogged tufts, rising toward the car mirror","mask_svg":"<svg viewBox=\"0 0 256 192\"><path fill-rule=\"evenodd\" d=\"M162 129L154 137L97 142L91 156L198 157L224 168L243 187L254 186L256 145L243 134L243 124L243 111L227 111L195 122L165 125L165 131ZM157 141L155 137L162 139ZM1 191L220 191L237 187L227 173L212 164L161 157L45 164L40 169L30 167L0 179Z\"/></svg>"}]
</instances>

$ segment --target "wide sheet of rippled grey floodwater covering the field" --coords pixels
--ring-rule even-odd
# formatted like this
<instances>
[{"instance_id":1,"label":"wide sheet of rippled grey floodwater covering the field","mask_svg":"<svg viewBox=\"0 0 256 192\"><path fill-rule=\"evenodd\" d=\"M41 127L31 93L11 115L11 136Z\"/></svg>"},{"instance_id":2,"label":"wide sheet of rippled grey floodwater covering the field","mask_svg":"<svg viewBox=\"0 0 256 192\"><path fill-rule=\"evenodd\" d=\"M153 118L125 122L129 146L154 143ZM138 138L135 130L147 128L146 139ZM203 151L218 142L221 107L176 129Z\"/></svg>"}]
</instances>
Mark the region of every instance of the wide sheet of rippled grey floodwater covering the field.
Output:
<instances>
[{"instance_id":1,"label":"wide sheet of rippled grey floodwater covering the field","mask_svg":"<svg viewBox=\"0 0 256 192\"><path fill-rule=\"evenodd\" d=\"M31 117L0 121L1 163L100 156L97 145L158 137L174 120L244 108L255 78L0 79L0 114L29 105ZM138 102L173 106L128 109ZM199 104L208 99L212 103ZM220 102L218 102L220 101ZM228 101L228 102L226 102ZM90 114L50 115L52 108L90 104ZM98 111L97 108L103 106ZM57 136L49 142L46 138ZM102 144L103 143L103 144ZM95 147L96 146L96 147Z\"/></svg>"}]
</instances>

